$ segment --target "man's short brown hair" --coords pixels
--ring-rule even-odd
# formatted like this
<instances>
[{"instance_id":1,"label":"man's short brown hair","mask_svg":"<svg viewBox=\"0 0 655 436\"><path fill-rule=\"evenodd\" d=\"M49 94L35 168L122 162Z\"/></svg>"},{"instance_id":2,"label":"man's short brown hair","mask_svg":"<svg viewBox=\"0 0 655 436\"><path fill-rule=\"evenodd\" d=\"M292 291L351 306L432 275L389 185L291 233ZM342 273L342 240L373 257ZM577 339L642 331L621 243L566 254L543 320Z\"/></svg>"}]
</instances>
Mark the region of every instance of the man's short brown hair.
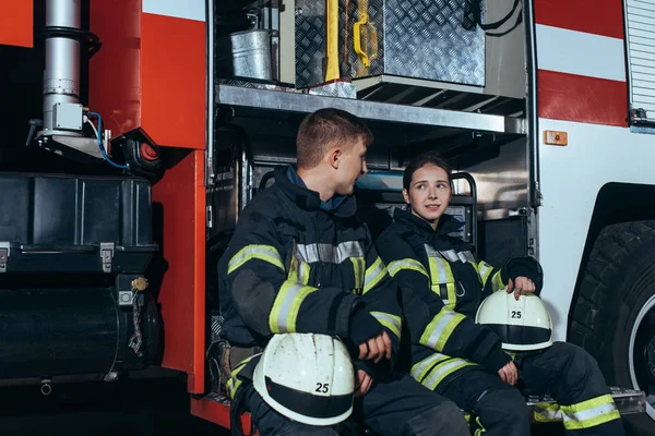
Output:
<instances>
[{"instance_id":1,"label":"man's short brown hair","mask_svg":"<svg viewBox=\"0 0 655 436\"><path fill-rule=\"evenodd\" d=\"M352 147L358 140L367 147L373 142L364 121L345 110L319 109L300 124L296 138L298 168L314 168L333 146Z\"/></svg>"}]
</instances>

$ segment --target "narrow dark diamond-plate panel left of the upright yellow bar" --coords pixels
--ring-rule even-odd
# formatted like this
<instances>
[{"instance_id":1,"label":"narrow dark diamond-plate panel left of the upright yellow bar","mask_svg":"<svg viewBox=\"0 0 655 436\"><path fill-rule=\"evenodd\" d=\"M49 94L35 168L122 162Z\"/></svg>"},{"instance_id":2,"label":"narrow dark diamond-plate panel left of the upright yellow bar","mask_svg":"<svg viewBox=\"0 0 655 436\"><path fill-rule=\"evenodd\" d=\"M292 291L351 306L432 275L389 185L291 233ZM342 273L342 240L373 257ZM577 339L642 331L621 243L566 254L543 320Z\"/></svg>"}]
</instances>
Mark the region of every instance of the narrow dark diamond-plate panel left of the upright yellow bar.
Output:
<instances>
[{"instance_id":1,"label":"narrow dark diamond-plate panel left of the upright yellow bar","mask_svg":"<svg viewBox=\"0 0 655 436\"><path fill-rule=\"evenodd\" d=\"M325 39L325 2L296 0L296 87L324 82Z\"/></svg>"}]
</instances>

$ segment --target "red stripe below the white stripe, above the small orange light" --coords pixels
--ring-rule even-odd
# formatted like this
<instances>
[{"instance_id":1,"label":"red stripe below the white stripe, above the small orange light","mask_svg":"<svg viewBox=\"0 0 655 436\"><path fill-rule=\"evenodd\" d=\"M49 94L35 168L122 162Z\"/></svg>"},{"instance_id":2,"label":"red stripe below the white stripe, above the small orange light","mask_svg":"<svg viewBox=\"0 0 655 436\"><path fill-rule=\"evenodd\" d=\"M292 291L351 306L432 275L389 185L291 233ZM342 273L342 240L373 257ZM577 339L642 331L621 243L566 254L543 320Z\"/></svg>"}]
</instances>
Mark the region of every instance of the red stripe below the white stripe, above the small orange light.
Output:
<instances>
[{"instance_id":1,"label":"red stripe below the white stripe, above the small orange light","mask_svg":"<svg viewBox=\"0 0 655 436\"><path fill-rule=\"evenodd\" d=\"M626 82L538 72L539 117L607 125L628 125Z\"/></svg>"}]
</instances>

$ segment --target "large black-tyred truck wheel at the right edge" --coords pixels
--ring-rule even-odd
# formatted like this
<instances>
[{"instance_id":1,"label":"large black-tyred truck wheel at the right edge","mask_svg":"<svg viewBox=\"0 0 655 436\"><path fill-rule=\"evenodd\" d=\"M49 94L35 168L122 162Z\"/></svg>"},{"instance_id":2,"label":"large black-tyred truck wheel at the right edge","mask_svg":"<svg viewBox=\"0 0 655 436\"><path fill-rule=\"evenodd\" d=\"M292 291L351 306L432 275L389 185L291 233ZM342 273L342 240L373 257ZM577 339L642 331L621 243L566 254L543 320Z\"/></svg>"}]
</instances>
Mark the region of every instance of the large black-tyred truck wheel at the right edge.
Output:
<instances>
[{"instance_id":1,"label":"large black-tyred truck wheel at the right edge","mask_svg":"<svg viewBox=\"0 0 655 436\"><path fill-rule=\"evenodd\" d=\"M570 340L596 360L610 386L643 390L645 415L627 421L655 435L655 221L606 227L575 302Z\"/></svg>"}]
</instances>

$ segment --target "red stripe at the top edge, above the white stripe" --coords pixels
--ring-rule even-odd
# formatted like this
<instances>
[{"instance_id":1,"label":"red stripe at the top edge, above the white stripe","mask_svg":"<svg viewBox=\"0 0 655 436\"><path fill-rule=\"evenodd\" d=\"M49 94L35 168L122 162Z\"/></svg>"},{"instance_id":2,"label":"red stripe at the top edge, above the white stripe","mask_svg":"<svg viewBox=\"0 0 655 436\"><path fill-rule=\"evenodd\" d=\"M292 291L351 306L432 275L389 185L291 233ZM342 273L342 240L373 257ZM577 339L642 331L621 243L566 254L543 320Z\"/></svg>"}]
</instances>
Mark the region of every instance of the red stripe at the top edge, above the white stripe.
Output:
<instances>
[{"instance_id":1,"label":"red stripe at the top edge, above the white stripe","mask_svg":"<svg viewBox=\"0 0 655 436\"><path fill-rule=\"evenodd\" d=\"M622 0L535 0L535 21L623 39Z\"/></svg>"}]
</instances>

